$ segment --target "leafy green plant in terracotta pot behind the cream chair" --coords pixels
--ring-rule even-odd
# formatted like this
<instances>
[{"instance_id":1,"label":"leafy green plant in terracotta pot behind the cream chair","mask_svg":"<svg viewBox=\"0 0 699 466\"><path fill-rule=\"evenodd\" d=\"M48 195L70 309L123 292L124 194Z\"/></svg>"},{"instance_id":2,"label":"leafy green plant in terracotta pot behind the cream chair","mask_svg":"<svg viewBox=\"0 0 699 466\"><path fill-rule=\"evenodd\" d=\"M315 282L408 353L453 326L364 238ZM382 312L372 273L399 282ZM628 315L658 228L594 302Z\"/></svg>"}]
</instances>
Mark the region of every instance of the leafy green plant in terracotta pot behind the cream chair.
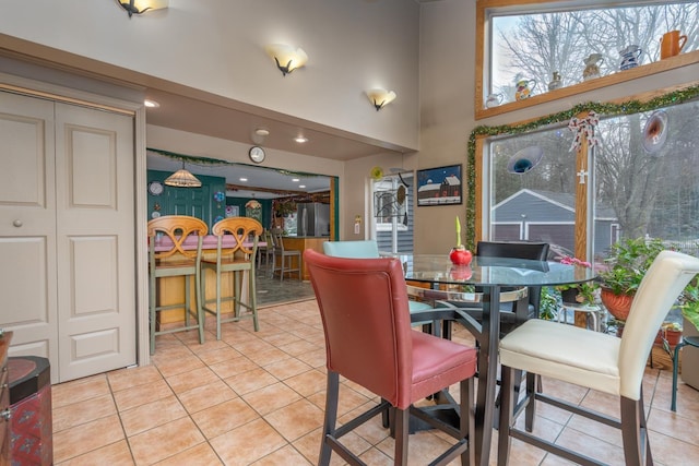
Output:
<instances>
[{"instance_id":1,"label":"leafy green plant in terracotta pot behind the cream chair","mask_svg":"<svg viewBox=\"0 0 699 466\"><path fill-rule=\"evenodd\" d=\"M609 256L604 261L608 268L600 273L600 298L612 315L626 320L645 272L665 249L657 238L627 238L612 244Z\"/></svg>"}]
</instances>

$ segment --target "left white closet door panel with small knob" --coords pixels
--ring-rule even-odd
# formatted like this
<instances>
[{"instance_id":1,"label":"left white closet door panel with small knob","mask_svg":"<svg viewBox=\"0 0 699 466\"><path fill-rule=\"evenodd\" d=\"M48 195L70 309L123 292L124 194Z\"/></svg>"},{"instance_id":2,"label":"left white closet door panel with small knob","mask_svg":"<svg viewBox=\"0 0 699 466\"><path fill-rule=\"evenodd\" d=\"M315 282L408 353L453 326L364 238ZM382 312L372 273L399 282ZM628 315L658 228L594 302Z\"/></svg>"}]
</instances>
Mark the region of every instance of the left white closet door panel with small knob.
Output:
<instances>
[{"instance_id":1,"label":"left white closet door panel with small knob","mask_svg":"<svg viewBox=\"0 0 699 466\"><path fill-rule=\"evenodd\" d=\"M51 366L58 362L54 154L54 103L0 92L0 326L14 332L10 356L40 356Z\"/></svg>"}]
</instances>

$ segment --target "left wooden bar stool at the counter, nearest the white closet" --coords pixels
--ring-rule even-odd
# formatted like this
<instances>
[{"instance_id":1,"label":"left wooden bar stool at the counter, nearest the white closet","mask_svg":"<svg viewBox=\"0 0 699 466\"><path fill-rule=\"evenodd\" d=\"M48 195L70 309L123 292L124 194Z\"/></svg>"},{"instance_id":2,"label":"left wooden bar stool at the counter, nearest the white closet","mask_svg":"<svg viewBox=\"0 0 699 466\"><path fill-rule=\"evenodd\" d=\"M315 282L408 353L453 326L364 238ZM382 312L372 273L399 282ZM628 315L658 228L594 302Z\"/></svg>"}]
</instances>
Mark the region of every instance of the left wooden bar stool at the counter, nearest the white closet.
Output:
<instances>
[{"instance_id":1,"label":"left wooden bar stool at the counter, nearest the white closet","mask_svg":"<svg viewBox=\"0 0 699 466\"><path fill-rule=\"evenodd\" d=\"M201 310L199 264L203 238L209 227L199 218L187 215L166 215L149 222L149 318L151 330L151 355L155 353L155 336L166 333L199 330L199 342L204 343L204 319ZM192 238L196 238L192 241ZM156 302L158 278L183 277L185 302L158 306ZM190 277L194 277L197 324L189 324ZM169 309L185 308L185 325L176 328L156 330L157 313Z\"/></svg>"}]
</instances>

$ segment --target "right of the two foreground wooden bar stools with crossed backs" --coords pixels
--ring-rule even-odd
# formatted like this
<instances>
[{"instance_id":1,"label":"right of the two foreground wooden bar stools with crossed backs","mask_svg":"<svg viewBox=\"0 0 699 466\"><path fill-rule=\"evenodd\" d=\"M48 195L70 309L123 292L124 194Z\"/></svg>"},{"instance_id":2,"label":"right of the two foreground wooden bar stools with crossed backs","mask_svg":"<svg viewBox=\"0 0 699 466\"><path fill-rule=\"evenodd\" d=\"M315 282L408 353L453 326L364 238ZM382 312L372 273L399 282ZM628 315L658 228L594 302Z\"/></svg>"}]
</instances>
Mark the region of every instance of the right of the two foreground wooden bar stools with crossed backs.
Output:
<instances>
[{"instance_id":1,"label":"right of the two foreground wooden bar stools with crossed backs","mask_svg":"<svg viewBox=\"0 0 699 466\"><path fill-rule=\"evenodd\" d=\"M258 238L262 235L262 225L254 218L228 217L217 222L211 231L216 236L216 256L203 258L201 260L202 279L201 292L205 296L206 271L213 271L216 275L216 297L203 300L202 310L216 316L216 339L221 339L221 324L226 322L237 322L241 319L251 318L254 331L259 331L258 309L254 288L254 263L258 252ZM252 238L250 244L249 238ZM224 241L230 241L224 246ZM233 275L233 295L222 297L222 274L229 272ZM242 274L248 272L248 299L244 302ZM221 303L233 302L233 316L222 319ZM214 303L215 308L208 304ZM240 307L246 308L249 313L241 314Z\"/></svg>"}]
</instances>

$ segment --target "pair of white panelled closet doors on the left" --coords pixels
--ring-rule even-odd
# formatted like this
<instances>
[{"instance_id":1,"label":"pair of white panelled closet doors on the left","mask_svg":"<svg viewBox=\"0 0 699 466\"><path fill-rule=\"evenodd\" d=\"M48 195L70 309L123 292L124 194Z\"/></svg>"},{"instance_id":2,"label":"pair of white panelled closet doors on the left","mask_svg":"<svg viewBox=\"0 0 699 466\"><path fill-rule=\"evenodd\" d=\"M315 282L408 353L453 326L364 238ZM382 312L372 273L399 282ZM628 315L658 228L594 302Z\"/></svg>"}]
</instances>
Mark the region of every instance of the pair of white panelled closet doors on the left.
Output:
<instances>
[{"instance_id":1,"label":"pair of white panelled closet doors on the left","mask_svg":"<svg viewBox=\"0 0 699 466\"><path fill-rule=\"evenodd\" d=\"M0 326L51 382L135 363L133 118L0 92Z\"/></svg>"}]
</instances>

